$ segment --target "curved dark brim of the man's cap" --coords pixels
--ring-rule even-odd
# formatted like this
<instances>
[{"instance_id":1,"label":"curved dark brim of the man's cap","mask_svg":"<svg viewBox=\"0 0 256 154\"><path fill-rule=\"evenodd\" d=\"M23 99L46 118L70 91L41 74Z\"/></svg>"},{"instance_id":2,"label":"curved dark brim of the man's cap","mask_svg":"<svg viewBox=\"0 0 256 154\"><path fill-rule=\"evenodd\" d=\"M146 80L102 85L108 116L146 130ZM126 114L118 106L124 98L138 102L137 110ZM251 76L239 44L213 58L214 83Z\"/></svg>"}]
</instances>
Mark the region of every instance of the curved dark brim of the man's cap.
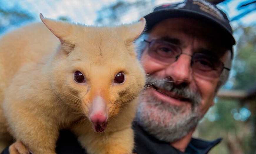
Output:
<instances>
[{"instance_id":1,"label":"curved dark brim of the man's cap","mask_svg":"<svg viewBox=\"0 0 256 154\"><path fill-rule=\"evenodd\" d=\"M176 18L176 17L185 17L185 18L191 18L191 19L198 19L200 21L205 21L207 23L212 24L212 26L215 26L220 29L224 33L224 36L227 37L227 40L229 40L229 43L231 46L235 44L235 39L232 35L232 32L227 29L222 23L217 21L216 19L213 19L211 16L207 16L205 14L200 14L198 12L187 10L187 9L166 9L161 11L154 11L150 14L147 14L144 16L144 18L147 21L147 29L146 31L152 29L156 24L159 22L169 19L169 18Z\"/></svg>"}]
</instances>

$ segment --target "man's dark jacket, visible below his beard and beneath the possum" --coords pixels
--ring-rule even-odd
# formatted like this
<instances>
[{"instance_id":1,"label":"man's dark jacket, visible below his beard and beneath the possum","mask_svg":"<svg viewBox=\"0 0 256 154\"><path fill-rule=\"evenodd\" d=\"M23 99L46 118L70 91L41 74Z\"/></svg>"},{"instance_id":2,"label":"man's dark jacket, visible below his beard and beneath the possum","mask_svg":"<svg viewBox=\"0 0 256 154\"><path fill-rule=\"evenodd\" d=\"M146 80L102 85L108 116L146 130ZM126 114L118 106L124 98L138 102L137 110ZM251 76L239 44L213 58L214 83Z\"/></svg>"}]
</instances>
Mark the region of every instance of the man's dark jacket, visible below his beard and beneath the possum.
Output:
<instances>
[{"instance_id":1,"label":"man's dark jacket, visible below his beard and beneath the possum","mask_svg":"<svg viewBox=\"0 0 256 154\"><path fill-rule=\"evenodd\" d=\"M221 139L217 139L208 142L192 138L186 152L183 153L173 148L169 143L155 139L144 131L136 122L133 123L133 129L135 133L134 153L137 154L206 154L221 141ZM58 154L86 154L86 151L81 147L75 135L69 130L60 131L56 152ZM9 154L8 148L1 154Z\"/></svg>"}]
</instances>

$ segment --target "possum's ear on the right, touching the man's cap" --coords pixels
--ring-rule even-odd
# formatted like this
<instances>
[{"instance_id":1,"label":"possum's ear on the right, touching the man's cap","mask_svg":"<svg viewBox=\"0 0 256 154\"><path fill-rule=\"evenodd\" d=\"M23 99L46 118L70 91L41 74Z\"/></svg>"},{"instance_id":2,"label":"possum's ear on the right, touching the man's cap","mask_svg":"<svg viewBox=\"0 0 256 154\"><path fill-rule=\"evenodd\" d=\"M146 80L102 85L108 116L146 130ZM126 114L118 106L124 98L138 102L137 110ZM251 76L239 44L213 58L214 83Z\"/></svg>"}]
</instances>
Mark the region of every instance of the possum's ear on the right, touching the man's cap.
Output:
<instances>
[{"instance_id":1,"label":"possum's ear on the right, touching the man's cap","mask_svg":"<svg viewBox=\"0 0 256 154\"><path fill-rule=\"evenodd\" d=\"M127 41L133 42L136 38L138 38L142 34L142 32L144 31L145 25L146 25L145 18L141 18L135 24L127 25L128 34L124 35L124 36L129 36L129 38L126 38Z\"/></svg>"}]
</instances>

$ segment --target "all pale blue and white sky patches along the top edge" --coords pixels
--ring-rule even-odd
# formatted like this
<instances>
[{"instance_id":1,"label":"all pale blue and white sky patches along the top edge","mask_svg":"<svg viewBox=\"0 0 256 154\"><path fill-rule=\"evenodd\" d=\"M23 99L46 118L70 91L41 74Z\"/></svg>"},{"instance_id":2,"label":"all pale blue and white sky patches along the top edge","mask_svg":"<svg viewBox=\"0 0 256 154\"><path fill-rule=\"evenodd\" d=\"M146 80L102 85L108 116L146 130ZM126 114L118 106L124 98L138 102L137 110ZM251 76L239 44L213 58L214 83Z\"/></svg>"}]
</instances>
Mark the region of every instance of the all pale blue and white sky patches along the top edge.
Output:
<instances>
[{"instance_id":1,"label":"all pale blue and white sky patches along the top edge","mask_svg":"<svg viewBox=\"0 0 256 154\"><path fill-rule=\"evenodd\" d=\"M74 22L80 22L84 24L94 24L97 18L97 11L114 4L118 0L1 0L4 7L19 7L22 10L26 10L29 14L33 15L37 21L40 21L39 13L42 13L45 17L57 19L59 16L69 16ZM119 0L120 1L120 0ZM134 2L138 0L129 0L126 2ZM147 6L151 8L145 9L144 15L152 11L154 6L167 3L170 1L182 1L182 0L148 0L152 5ZM232 19L243 10L237 9L237 6L242 1L248 0L226 0L218 5L228 17ZM252 1L252 0L251 0ZM255 4L256 5L256 4ZM251 5L251 8L256 10L256 6ZM247 7L250 9L249 7ZM123 18L121 22L132 22L140 19L140 14L136 13L136 10L128 11L127 17ZM232 22L232 26L236 26L238 23L242 24L256 24L256 11L243 17L239 21Z\"/></svg>"}]
</instances>

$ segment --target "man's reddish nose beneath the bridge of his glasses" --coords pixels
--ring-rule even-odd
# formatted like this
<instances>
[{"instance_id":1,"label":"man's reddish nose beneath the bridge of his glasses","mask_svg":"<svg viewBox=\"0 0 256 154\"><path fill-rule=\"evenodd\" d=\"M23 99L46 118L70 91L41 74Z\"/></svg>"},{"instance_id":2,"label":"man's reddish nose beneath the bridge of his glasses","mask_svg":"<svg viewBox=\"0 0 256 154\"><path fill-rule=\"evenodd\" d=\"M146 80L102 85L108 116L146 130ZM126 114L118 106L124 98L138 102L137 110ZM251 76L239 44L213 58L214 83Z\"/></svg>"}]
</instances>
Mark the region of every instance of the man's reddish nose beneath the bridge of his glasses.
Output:
<instances>
[{"instance_id":1,"label":"man's reddish nose beneath the bridge of his glasses","mask_svg":"<svg viewBox=\"0 0 256 154\"><path fill-rule=\"evenodd\" d=\"M191 56L181 54L178 59L165 69L167 77L173 79L174 84L189 83L192 80Z\"/></svg>"}]
</instances>

